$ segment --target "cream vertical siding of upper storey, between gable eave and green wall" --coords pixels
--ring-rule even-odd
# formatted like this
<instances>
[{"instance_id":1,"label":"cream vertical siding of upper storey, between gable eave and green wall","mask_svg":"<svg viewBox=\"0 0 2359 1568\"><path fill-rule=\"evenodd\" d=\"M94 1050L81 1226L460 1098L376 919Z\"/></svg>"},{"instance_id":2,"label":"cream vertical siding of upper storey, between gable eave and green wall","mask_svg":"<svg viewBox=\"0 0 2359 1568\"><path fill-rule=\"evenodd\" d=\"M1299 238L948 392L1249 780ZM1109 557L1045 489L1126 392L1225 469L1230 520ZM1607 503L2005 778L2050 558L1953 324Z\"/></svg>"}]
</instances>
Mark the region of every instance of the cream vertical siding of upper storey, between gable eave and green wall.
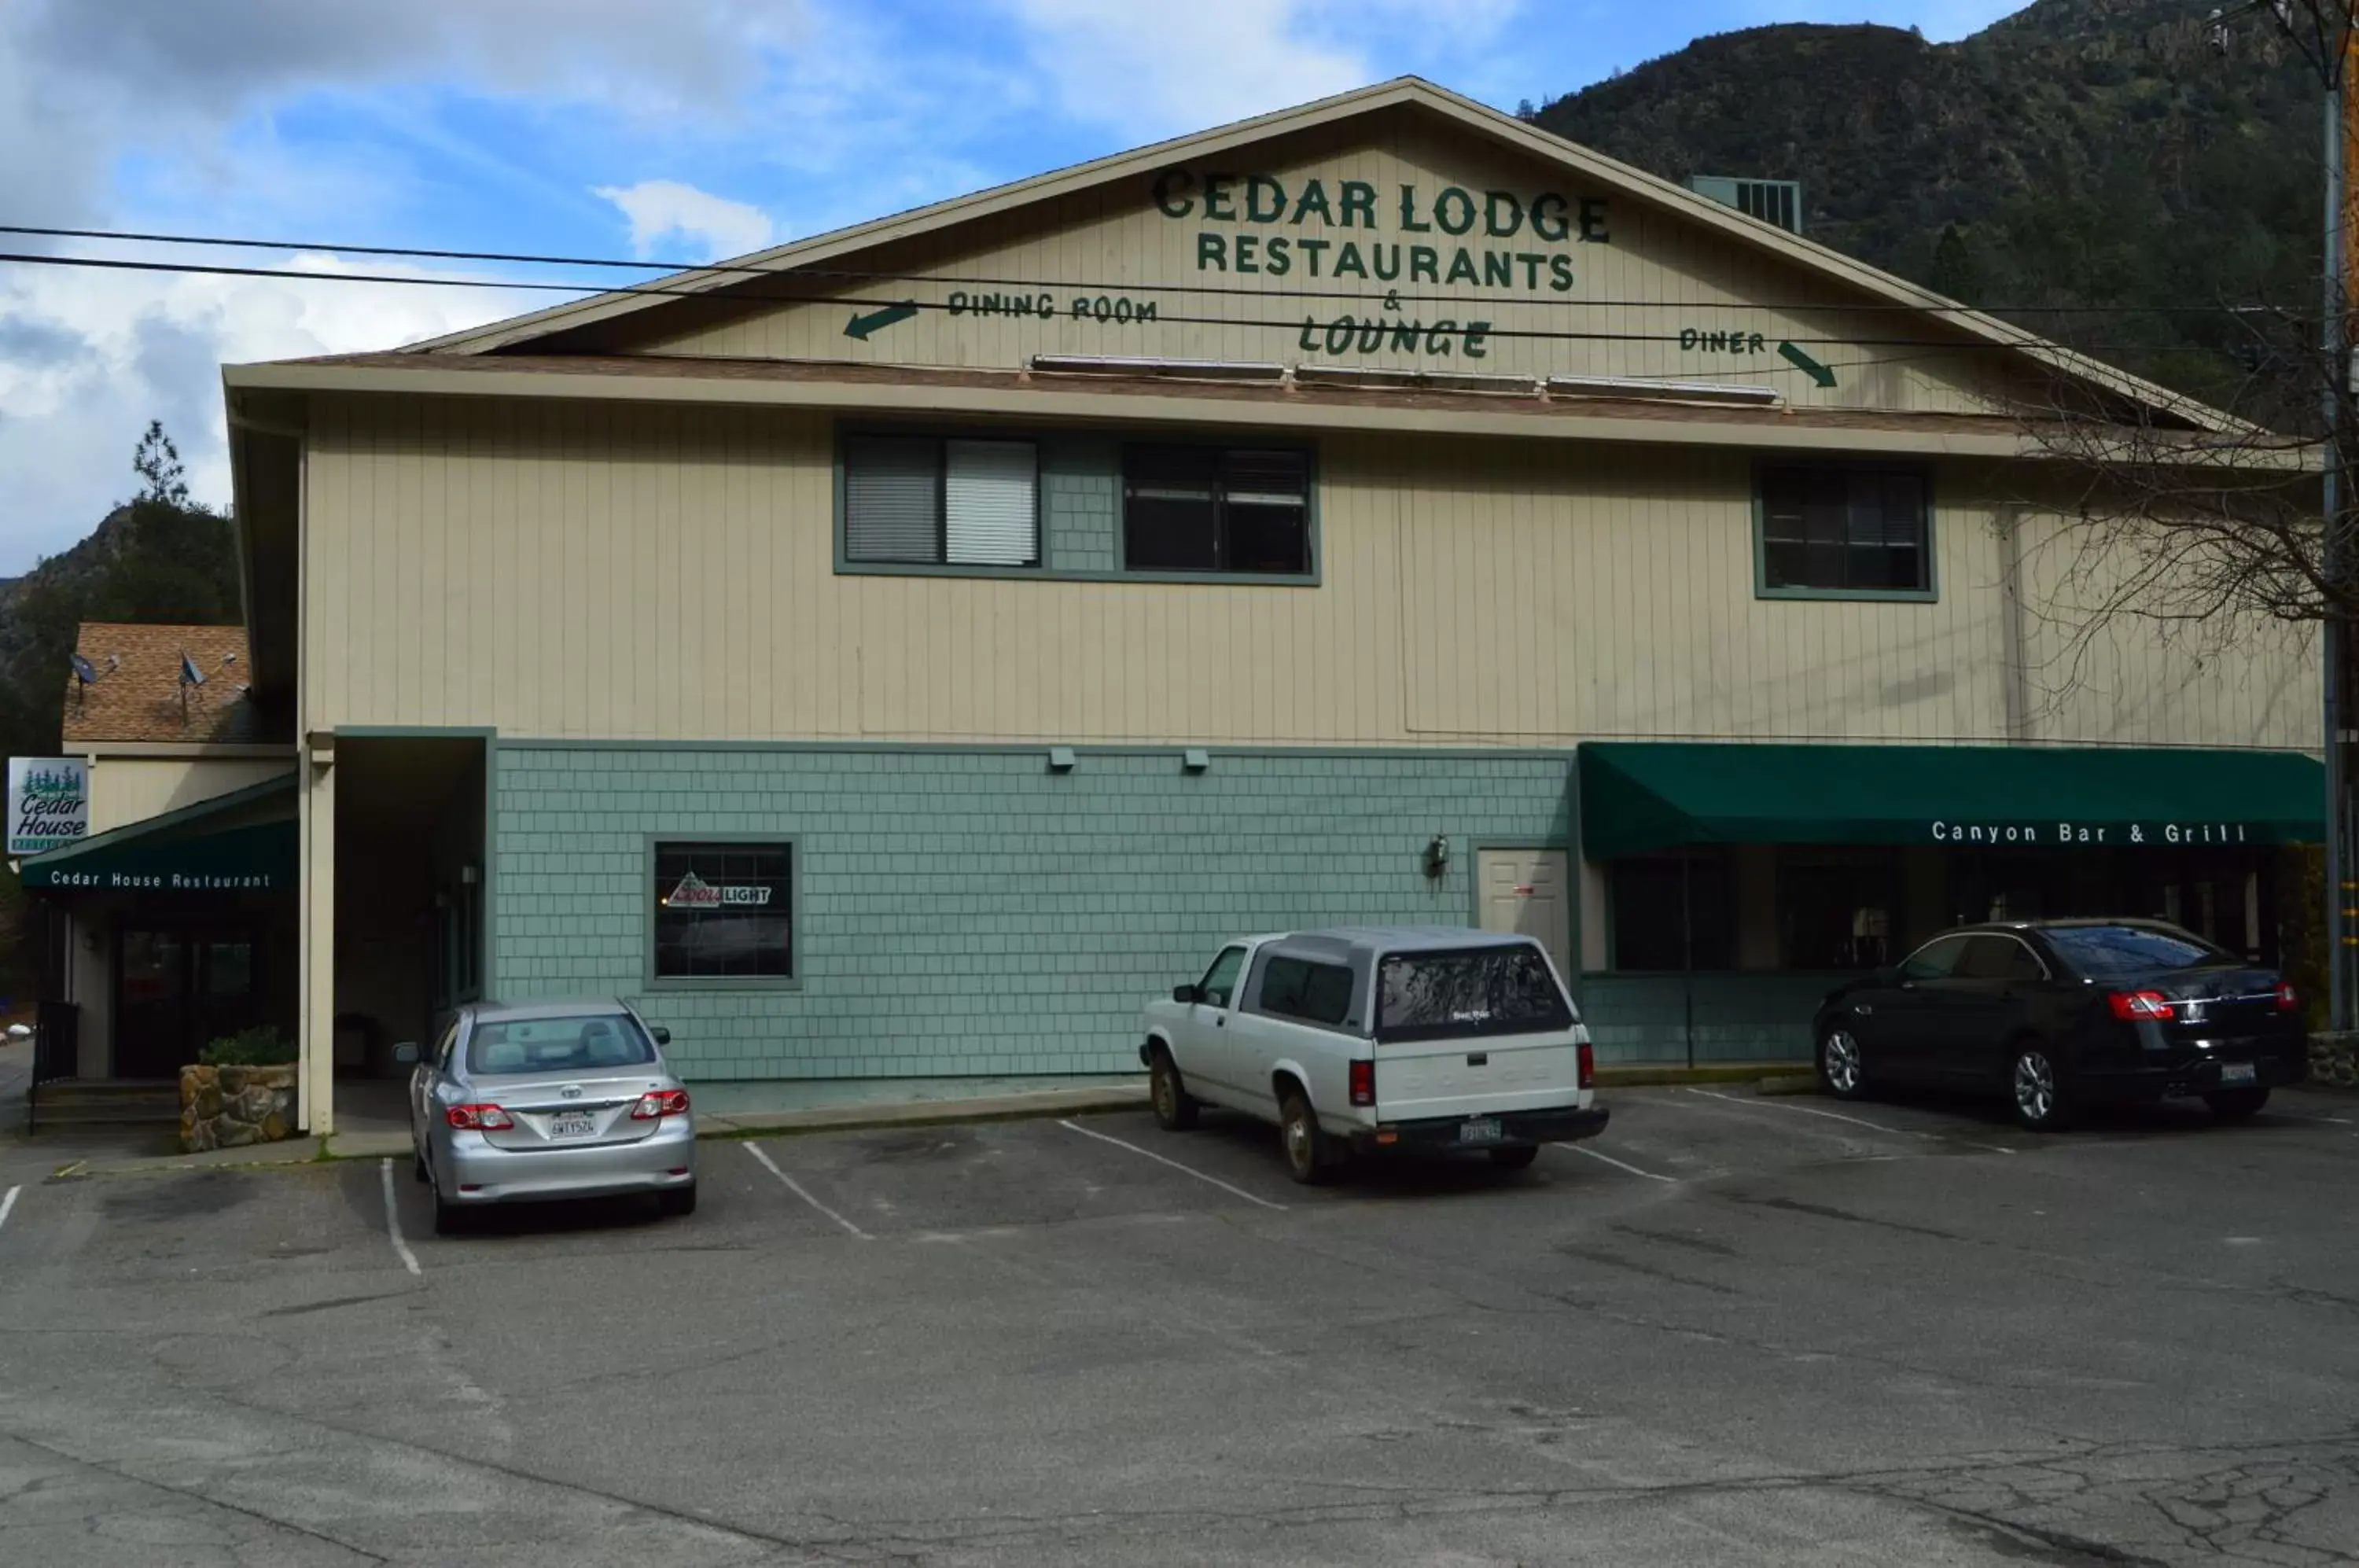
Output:
<instances>
[{"instance_id":1,"label":"cream vertical siding of upper storey, between gable eave and green wall","mask_svg":"<svg viewBox=\"0 0 2359 1568\"><path fill-rule=\"evenodd\" d=\"M823 415L323 398L307 472L307 731L2008 738L2010 490L1965 465L1932 604L1760 599L1753 465L1715 450L1323 441L1319 587L837 575ZM2317 743L2298 639L2104 646L2026 738Z\"/></svg>"}]
</instances>

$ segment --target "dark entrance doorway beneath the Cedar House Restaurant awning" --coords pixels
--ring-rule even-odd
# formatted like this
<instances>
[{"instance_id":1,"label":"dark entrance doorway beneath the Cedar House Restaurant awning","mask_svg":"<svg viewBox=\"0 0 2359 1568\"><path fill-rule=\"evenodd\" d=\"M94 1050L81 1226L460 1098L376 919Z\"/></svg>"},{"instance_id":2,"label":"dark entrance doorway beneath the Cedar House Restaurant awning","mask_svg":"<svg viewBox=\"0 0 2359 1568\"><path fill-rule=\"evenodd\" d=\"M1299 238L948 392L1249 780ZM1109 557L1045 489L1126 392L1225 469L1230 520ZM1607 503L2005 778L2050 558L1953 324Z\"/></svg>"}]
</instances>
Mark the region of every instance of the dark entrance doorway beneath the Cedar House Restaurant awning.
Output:
<instances>
[{"instance_id":1,"label":"dark entrance doorway beneath the Cedar House Restaurant awning","mask_svg":"<svg viewBox=\"0 0 2359 1568\"><path fill-rule=\"evenodd\" d=\"M116 934L116 1078L172 1078L222 1035L267 1023L250 922L137 920Z\"/></svg>"}]
</instances>

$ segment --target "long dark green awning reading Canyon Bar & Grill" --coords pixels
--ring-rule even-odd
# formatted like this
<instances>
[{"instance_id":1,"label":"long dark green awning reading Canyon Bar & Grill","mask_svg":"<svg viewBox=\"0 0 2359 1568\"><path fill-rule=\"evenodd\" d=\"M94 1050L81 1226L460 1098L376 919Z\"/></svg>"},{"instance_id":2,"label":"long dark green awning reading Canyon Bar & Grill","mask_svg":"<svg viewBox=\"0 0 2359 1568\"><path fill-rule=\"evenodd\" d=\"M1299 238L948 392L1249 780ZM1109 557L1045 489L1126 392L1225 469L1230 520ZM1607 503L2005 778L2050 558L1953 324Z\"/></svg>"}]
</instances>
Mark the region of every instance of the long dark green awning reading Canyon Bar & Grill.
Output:
<instances>
[{"instance_id":1,"label":"long dark green awning reading Canyon Bar & Grill","mask_svg":"<svg viewBox=\"0 0 2359 1568\"><path fill-rule=\"evenodd\" d=\"M1592 861L1682 844L2317 844L2326 769L2298 752L2033 745L1581 747Z\"/></svg>"}]
</instances>

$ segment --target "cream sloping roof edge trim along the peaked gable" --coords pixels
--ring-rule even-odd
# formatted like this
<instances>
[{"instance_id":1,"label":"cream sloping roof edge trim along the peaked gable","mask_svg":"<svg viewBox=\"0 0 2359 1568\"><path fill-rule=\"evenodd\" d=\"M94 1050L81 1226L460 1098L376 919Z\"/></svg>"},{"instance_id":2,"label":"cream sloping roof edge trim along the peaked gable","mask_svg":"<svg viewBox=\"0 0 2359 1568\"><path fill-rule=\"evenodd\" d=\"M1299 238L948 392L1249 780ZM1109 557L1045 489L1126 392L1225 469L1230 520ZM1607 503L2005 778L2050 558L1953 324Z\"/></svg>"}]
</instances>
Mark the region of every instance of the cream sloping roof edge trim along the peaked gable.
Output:
<instances>
[{"instance_id":1,"label":"cream sloping roof edge trim along the peaked gable","mask_svg":"<svg viewBox=\"0 0 2359 1568\"><path fill-rule=\"evenodd\" d=\"M1880 304L1904 307L1913 311L1925 311L1925 318L1956 328L1967 340L1979 340L2012 354L2022 354L2050 373L2059 373L2092 387L2102 387L2130 403L2149 408L2154 413L2187 420L2189 424L2208 431L2248 431L2250 427L2234 415L2217 408L2208 408L2194 398L2187 398L2168 387L2147 382L2142 377L2116 370L2102 361L2085 354L2076 354L2062 344L2055 344L2038 332L2029 332L1996 316L1974 311L1956 299L1932 292L1897 278L1887 271L1878 271L1857 257L1847 257L1840 250L1819 245L1816 241L1788 233L1772 224L1762 224L1753 217L1736 212L1708 196L1698 196L1684 186L1668 179L1649 174L1628 163L1606 158L1573 141L1564 141L1545 130L1526 125L1514 116L1500 113L1486 104L1460 97L1446 87L1437 87L1418 75L1401 75L1389 83L1378 83L1373 87L1359 87L1354 92L1342 92L1314 104L1302 104L1297 108L1281 108L1276 113L1255 116L1250 120L1236 120L1231 125L1220 125L1215 130L1196 132L1189 137L1175 137L1168 141L1156 141L1128 153L1116 153L1111 158L1097 158L1090 163L1076 163L1064 170L1050 170L1047 174L1036 174L1031 179L1019 179L1012 184L991 186L974 191L970 196L955 196L925 207L913 207L892 217L870 219L866 224L854 224L849 229L835 229L828 233L816 233L804 241L790 241L786 245L774 245L769 250L757 250L731 262L715 262L710 266L677 271L663 278L637 285L635 290L592 295L587 299L573 299L543 311L531 311L524 316L512 316L507 321L495 321L491 325L472 328L467 332L451 332L446 337L432 337L427 342L408 344L413 354L502 354L502 351L528 351L535 340L552 337L573 328L592 325L599 321L613 321L618 316L630 316L637 311L651 311L668 304L679 304L686 295L722 292L731 285L750 281L750 274L783 274L800 266L814 266L845 257L856 250L868 250L875 245L906 241L925 233L937 233L955 224L974 222L981 217L993 217L1014 207L1057 200L1076 191L1087 191L1092 186L1113 184L1121 179L1132 179L1139 174L1151 174L1172 163L1184 163L1191 158L1210 158L1227 153L1238 146L1255 141L1267 141L1274 137L1314 130L1321 125L1333 125L1338 120L1352 120L1387 108L1415 108L1422 113L1439 116L1467 132L1486 137L1491 141L1505 144L1517 153L1536 158L1540 163L1552 163L1573 174L1595 179L1599 184L1611 184L1618 191L1635 196L1637 200L1654 203L1677 212L1680 217L1713 229L1720 236L1781 257L1795 266L1814 271L1828 281L1842 283L1859 290ZM663 290L663 292L644 292Z\"/></svg>"}]
</instances>

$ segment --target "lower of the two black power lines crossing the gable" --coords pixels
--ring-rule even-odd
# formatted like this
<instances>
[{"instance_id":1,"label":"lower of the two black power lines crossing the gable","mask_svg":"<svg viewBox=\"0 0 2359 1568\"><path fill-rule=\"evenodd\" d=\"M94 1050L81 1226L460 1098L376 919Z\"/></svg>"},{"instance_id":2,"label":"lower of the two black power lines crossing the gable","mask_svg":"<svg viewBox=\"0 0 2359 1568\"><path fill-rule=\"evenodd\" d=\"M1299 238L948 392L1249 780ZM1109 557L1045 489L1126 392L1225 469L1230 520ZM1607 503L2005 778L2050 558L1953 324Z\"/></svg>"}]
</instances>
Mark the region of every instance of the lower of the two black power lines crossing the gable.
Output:
<instances>
[{"instance_id":1,"label":"lower of the two black power lines crossing the gable","mask_svg":"<svg viewBox=\"0 0 2359 1568\"><path fill-rule=\"evenodd\" d=\"M191 274L191 276L219 276L219 278L276 278L276 281L285 281L285 283L399 283L399 285L408 285L408 288L495 288L495 290L526 290L526 292L554 292L554 295L649 295L649 297L665 297L665 299L727 299L727 302L760 302L760 304L849 304L849 307L866 307L866 309L896 304L896 302L889 302L889 299L873 299L873 297L814 295L814 292L790 292L790 295L786 295L786 292L745 292L745 290L731 290L729 295L712 295L710 290L701 290L701 288L672 288L672 285L663 285L663 283L625 283L625 285L535 283L535 281L502 281L502 278L446 278L446 276L418 276L418 274L295 271L295 269L281 269L281 266L229 266L229 264L222 264L222 262L137 262L137 259L130 259L130 257L64 257L64 255L31 255L31 252L0 252L0 264L14 264L14 266L75 266L75 269L97 269L97 271ZM774 276L774 278L781 278L781 281L793 281L800 274L767 274L767 276ZM972 278L955 278L955 281L958 283L972 283ZM1062 283L1062 285L1031 283L1026 288L1036 288L1036 290L1040 290L1045 295L1050 288L1087 288L1087 285L1078 285L1078 283ZM1139 285L1139 283L1132 283L1128 288L1137 288L1137 290L1146 292L1144 285ZM1168 292L1182 292L1182 290L1168 290ZM1380 302L1371 299L1368 295L1342 295L1342 297L1359 299L1359 302L1366 302L1366 304L1380 309ZM915 304L918 309L925 309L925 311L948 311L951 309L944 302L911 302L911 304ZM1451 299L1451 304L1484 304L1484 302ZM1776 307L1741 307L1741 309L1776 309ZM1826 311L1826 309L1847 309L1847 307L1826 307L1826 304L1819 304L1819 307L1809 307L1809 309ZM1007 318L1010 311L977 309L974 316L984 318L984 321L988 321L988 318ZM1017 316L1052 318L1054 311L1050 311L1050 316L1038 316L1036 311L1017 311ZM1262 332L1295 332L1295 330L1300 330L1305 335L1309 335L1314 330L1316 332L1326 332L1328 325L1333 325L1333 323L1319 323L1319 321L1312 321L1312 318L1302 318L1300 323L1297 321L1248 321L1248 318L1241 318L1241 316L1182 316L1182 314L1175 314L1175 311L1156 311L1154 321L1170 321L1170 323L1180 323L1180 325L1250 328L1250 330L1262 330ZM1356 321L1356 330L1385 328L1389 332L1397 325L1406 325L1406 323L1389 323L1382 316L1368 316L1366 321ZM1422 323L1420 323L1420 330L1422 330ZM1677 344L1677 342L1682 342L1682 332L1573 332L1573 330L1562 330L1562 328L1500 328L1500 325L1484 325L1481 332L1472 332L1472 323L1453 323L1451 328L1441 328L1439 323L1434 323L1432 330L1439 332L1439 335L1444 335L1444 337L1479 335L1479 337L1486 337L1486 340L1489 337L1503 337L1503 340L1529 340L1529 342L1663 342L1663 344ZM2024 347L2024 344L2005 344L2005 342L1937 342L1937 340L1930 340L1930 337L1807 337L1807 335L1788 335L1788 332L1781 332L1779 340L1781 342L1790 342L1795 347L1932 349L1932 351L1941 351L1941 354L2010 354L2010 351L2019 351ZM2111 351L2109 344L2097 344L2097 347L2055 344L2055 347L2062 349L2062 351L2066 351L2066 354L2085 354L2085 356ZM2206 344L2128 344L2128 349L2130 351L2140 351L2140 354L2215 354L2217 351L2217 349L2210 349Z\"/></svg>"}]
</instances>

